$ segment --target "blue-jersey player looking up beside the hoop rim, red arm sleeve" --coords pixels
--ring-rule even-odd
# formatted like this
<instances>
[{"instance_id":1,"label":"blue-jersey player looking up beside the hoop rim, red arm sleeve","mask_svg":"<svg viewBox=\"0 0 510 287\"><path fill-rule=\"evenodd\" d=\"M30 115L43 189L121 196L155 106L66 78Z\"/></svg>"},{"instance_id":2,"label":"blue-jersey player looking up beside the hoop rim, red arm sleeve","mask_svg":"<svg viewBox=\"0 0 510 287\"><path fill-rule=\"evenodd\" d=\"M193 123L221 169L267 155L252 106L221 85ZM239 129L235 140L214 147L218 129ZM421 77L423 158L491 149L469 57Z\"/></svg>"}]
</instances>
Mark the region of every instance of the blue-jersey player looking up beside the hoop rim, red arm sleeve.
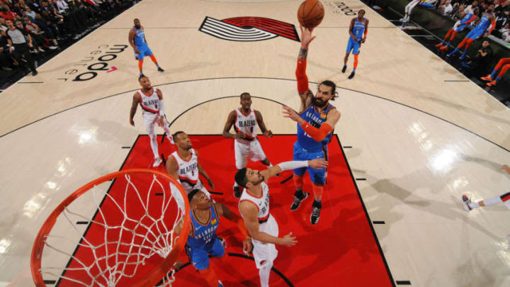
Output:
<instances>
[{"instance_id":1,"label":"blue-jersey player looking up beside the hoop rim, red arm sleeve","mask_svg":"<svg viewBox=\"0 0 510 287\"><path fill-rule=\"evenodd\" d=\"M210 257L222 257L225 254L224 240L216 236L216 231L220 225L220 217L223 215L228 220L237 223L245 240L243 241L243 251L248 254L253 249L251 238L244 227L242 218L232 213L221 203L214 203L200 189L193 189L188 193L190 203L191 229L186 242L186 254L197 269L198 273L207 281L209 287L223 287L221 281L218 281L215 271L209 268ZM175 232L180 235L182 222L176 226ZM182 261L176 261L179 267Z\"/></svg>"}]
</instances>

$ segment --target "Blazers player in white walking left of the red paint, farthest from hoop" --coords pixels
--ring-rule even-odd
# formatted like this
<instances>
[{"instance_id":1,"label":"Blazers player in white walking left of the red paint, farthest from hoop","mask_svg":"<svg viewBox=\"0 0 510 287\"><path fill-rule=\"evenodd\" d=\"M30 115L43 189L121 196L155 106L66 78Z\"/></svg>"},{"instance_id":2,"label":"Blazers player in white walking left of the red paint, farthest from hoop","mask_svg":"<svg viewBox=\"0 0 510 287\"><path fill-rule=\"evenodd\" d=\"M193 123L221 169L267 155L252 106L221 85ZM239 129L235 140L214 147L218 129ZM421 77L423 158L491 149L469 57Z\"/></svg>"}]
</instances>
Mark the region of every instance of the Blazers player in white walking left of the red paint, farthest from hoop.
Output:
<instances>
[{"instance_id":1,"label":"Blazers player in white walking left of the red paint, farthest from hoop","mask_svg":"<svg viewBox=\"0 0 510 287\"><path fill-rule=\"evenodd\" d=\"M154 164L152 167L157 167L163 161L161 157L159 157L158 148L157 148L157 135L156 135L156 125L162 127L166 133L166 138L172 143L170 130L168 128L168 121L164 115L164 101L163 101L163 93L159 89L151 86L149 78L145 76L141 76L138 78L140 82L140 86L142 89L136 91L133 96L133 101L131 105L130 111L130 124L135 126L135 121L133 118L135 117L136 110L138 105L142 107L142 116L145 121L145 128L147 129L147 133L150 137L150 145L152 149L152 153L154 153Z\"/></svg>"}]
</instances>

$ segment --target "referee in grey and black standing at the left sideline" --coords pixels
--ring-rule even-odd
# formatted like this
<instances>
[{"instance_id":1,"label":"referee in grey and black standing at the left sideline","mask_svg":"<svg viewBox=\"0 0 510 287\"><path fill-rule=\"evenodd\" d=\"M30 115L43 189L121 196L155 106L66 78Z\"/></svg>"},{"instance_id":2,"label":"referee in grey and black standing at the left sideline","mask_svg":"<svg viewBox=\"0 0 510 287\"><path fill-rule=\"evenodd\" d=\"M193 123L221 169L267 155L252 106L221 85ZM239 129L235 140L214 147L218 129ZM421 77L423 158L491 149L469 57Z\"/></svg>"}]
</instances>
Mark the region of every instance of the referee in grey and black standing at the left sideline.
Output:
<instances>
[{"instance_id":1,"label":"referee in grey and black standing at the left sideline","mask_svg":"<svg viewBox=\"0 0 510 287\"><path fill-rule=\"evenodd\" d=\"M26 30L17 29L11 20L7 20L6 24L8 28L7 35L9 36L7 38L9 44L9 52L13 52L14 48L14 55L16 57L16 61L18 62L20 62L21 57L25 58L25 60L28 62L28 67L30 67L30 70L32 71L32 76L35 76L38 74L38 72L35 70L35 62L33 57L30 55L30 48L33 47L30 33L28 33Z\"/></svg>"}]
</instances>

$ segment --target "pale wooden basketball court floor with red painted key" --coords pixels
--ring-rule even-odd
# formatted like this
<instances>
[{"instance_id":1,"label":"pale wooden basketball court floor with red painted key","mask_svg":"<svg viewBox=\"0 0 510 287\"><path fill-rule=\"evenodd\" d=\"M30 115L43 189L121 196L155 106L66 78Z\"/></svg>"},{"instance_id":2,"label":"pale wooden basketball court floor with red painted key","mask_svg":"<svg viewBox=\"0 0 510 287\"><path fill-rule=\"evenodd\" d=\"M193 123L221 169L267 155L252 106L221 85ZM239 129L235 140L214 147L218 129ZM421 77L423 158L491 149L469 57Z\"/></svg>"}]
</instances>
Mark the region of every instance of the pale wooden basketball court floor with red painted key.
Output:
<instances>
[{"instance_id":1,"label":"pale wooden basketball court floor with red painted key","mask_svg":"<svg viewBox=\"0 0 510 287\"><path fill-rule=\"evenodd\" d=\"M347 79L352 57L345 74L341 67L353 16L334 9L334 2L322 1L324 20L314 29L307 60L312 91L325 79L339 91L331 102L341 118L329 145L322 215L310 225L310 200L290 211L289 171L270 180L280 236L293 232L298 241L277 247L270 285L508 286L510 210L467 213L460 197L467 193L478 201L509 191L510 176L499 170L510 164L509 109L354 0L344 4L365 9L370 26L356 77ZM165 69L157 72L145 60L144 74L163 92L171 132L190 135L215 182L213 197L238 213L233 142L222 129L247 91L275 135L259 136L268 158L273 164L292 158L296 126L281 107L298 109L300 103L300 3L144 0L43 64L36 77L1 93L0 286L33 286L35 236L69 194L113 171L152 168L140 108L135 127L129 123L132 95L140 88L128 46L133 18L140 18ZM239 28L245 26L250 28ZM222 27L232 34L220 33ZM166 159L173 147L162 139L159 153ZM305 188L311 189L309 182ZM106 189L115 194L119 188L112 184L101 192ZM78 211L93 216L92 201L83 198ZM73 230L96 236L93 227L75 221ZM220 280L259 286L235 225L222 220L218 235L229 244L227 256L211 259ZM185 265L174 286L203 286L180 258ZM48 260L72 264L69 257ZM45 279L47 286L72 286Z\"/></svg>"}]
</instances>

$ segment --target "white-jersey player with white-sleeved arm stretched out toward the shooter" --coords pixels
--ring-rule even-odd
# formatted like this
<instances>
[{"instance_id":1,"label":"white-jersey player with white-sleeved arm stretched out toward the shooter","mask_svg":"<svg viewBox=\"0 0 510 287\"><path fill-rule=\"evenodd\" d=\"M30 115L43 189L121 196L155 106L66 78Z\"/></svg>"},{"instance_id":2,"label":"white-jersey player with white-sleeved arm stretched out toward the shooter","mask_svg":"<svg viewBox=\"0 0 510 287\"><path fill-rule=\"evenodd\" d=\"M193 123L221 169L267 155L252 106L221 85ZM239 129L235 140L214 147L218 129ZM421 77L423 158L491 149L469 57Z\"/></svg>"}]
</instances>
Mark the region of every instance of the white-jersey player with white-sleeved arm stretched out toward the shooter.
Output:
<instances>
[{"instance_id":1,"label":"white-jersey player with white-sleeved arm stretched out toward the shooter","mask_svg":"<svg viewBox=\"0 0 510 287\"><path fill-rule=\"evenodd\" d=\"M278 223L269 212L267 181L281 171L302 167L322 169L327 167L327 162L324 159L282 162L263 171L239 169L235 175L237 184L244 187L239 200L239 213L254 245L253 254L256 267L259 269L261 287L269 286L269 273L278 254L275 244L292 246L297 243L292 232L284 237L278 237Z\"/></svg>"}]
</instances>

